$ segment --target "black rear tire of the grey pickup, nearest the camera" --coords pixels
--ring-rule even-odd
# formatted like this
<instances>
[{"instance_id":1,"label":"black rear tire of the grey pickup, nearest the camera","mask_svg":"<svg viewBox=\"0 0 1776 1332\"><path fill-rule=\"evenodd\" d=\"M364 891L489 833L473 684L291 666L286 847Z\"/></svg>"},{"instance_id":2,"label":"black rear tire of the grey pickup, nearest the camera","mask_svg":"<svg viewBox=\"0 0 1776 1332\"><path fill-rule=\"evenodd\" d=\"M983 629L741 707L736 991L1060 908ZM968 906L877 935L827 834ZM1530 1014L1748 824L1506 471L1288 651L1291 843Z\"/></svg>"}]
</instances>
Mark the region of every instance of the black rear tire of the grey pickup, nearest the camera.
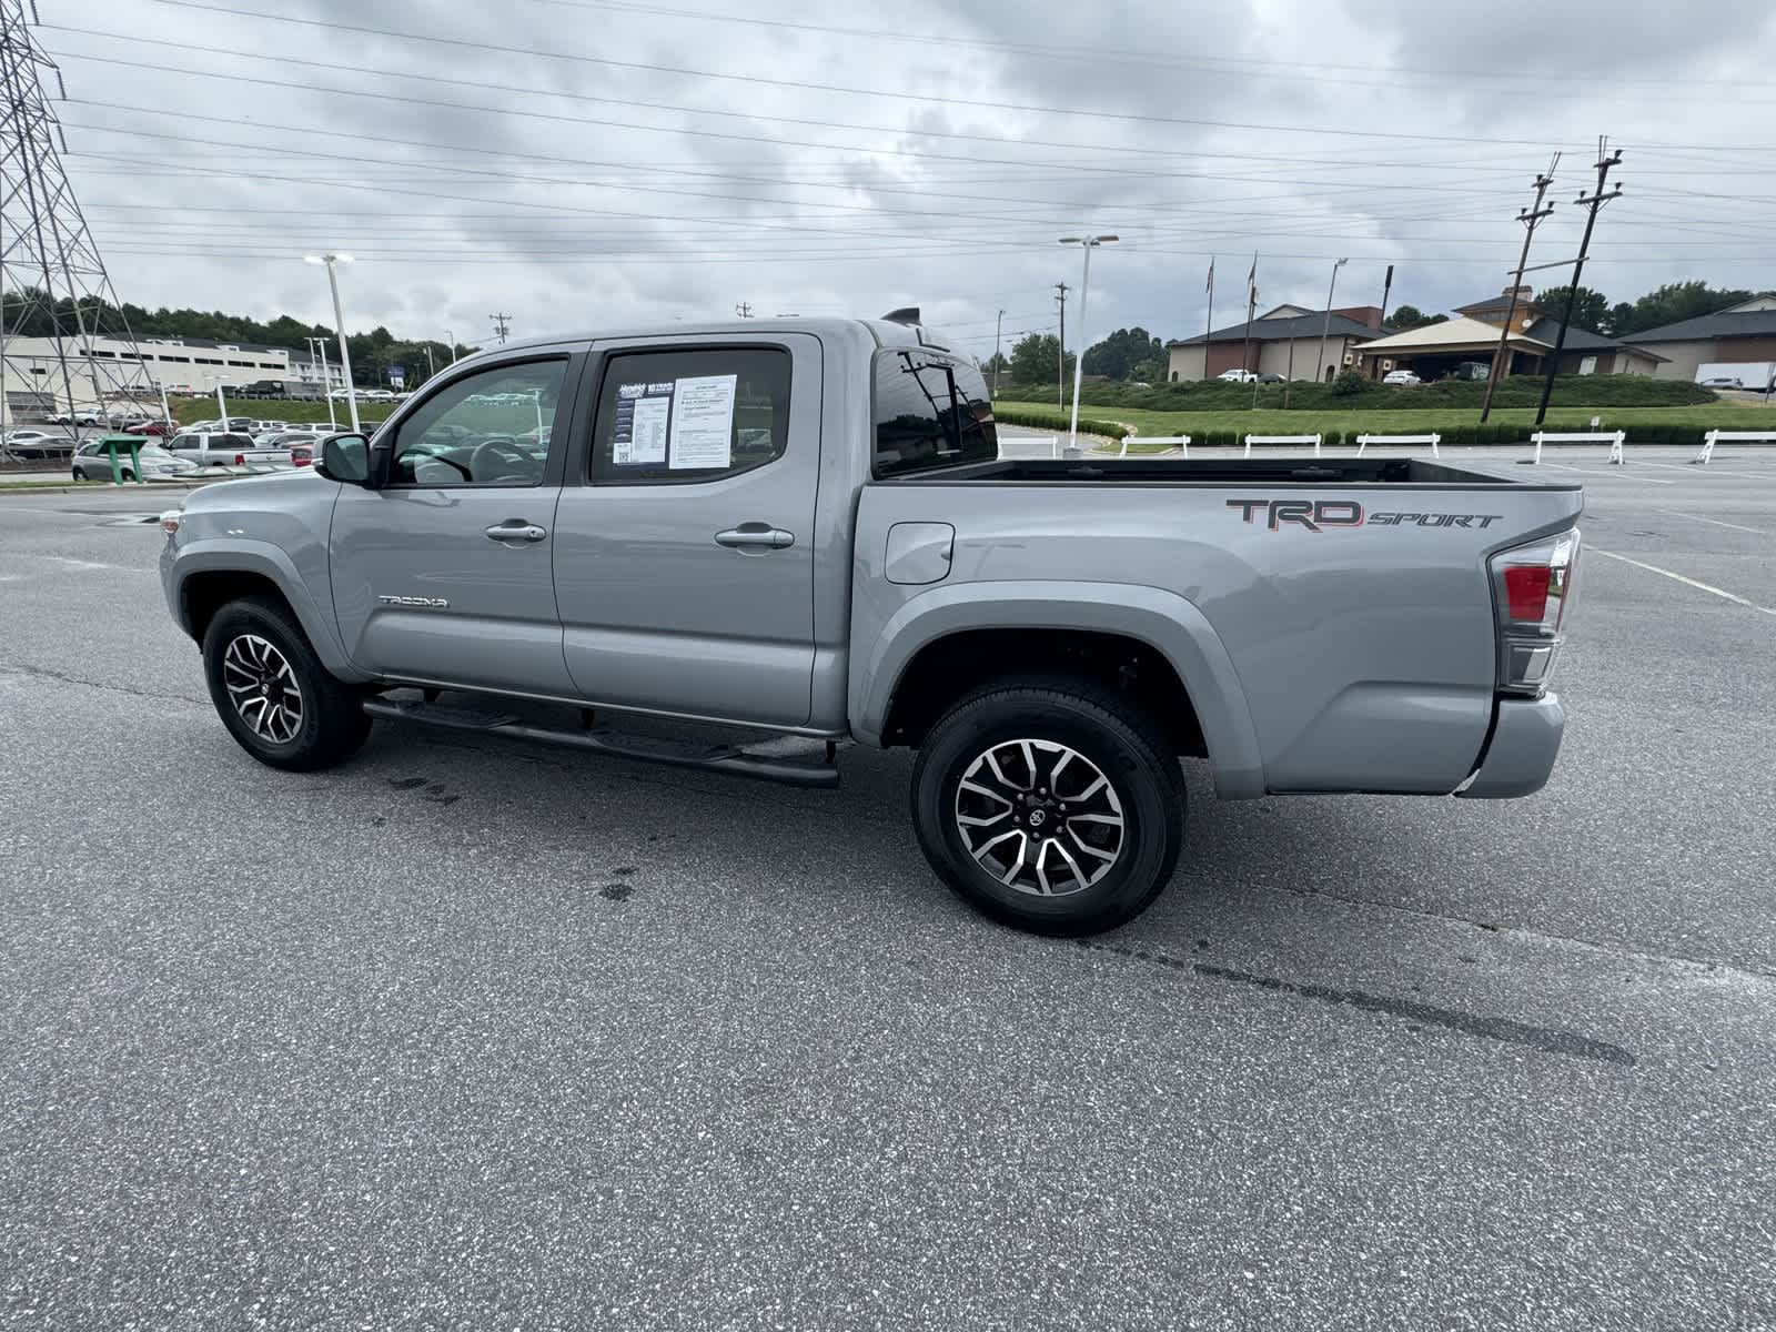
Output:
<instances>
[{"instance_id":1,"label":"black rear tire of the grey pickup, nearest the camera","mask_svg":"<svg viewBox=\"0 0 1776 1332\"><path fill-rule=\"evenodd\" d=\"M1027 751L1019 746L1021 741L1032 741L1034 746ZM1058 751L1071 751L1073 758L1062 758ZM1012 778L1009 787L980 767L987 753L996 755L995 762L1003 760L991 771ZM1034 762L1019 765L1021 753L1034 755ZM1089 801L1076 794L1071 781L1074 774L1092 774L1087 767L1073 767L1074 760L1098 769L1115 808L1101 805L1098 813L1089 810ZM1051 792L1043 785L1044 764L1050 764L1057 778ZM1003 797L982 792L973 781L963 792L963 780L970 771L987 787L1021 790L1025 767L1030 778L1030 808L1019 806L1021 797L1016 794ZM1060 780L1062 773L1067 773L1067 781ZM1090 781L1082 781L1080 790L1089 785ZM1044 794L1037 796L1035 789ZM1115 691L1069 677L1002 680L955 703L920 748L911 796L918 844L938 877L979 911L1035 934L1098 934L1133 920L1170 881L1185 840L1185 780L1158 726ZM964 808L980 799L986 803L973 805L973 813L966 817L987 828L966 833L977 838L970 847L961 819ZM1106 797L1099 792L1096 799ZM1002 803L1011 806L1009 815L996 813ZM1034 822L1025 822L1039 819L1039 808L1041 831ZM1009 831L1000 835L995 822L1007 817L1003 826ZM1112 847L1108 840L1099 840L1099 833L1108 836L1112 819L1121 819L1121 826L1115 833L1115 858L1105 865L1099 858ZM1083 824L1083 831L1076 824ZM1025 840L1007 840L1003 851L984 849L986 842L1009 838L1012 833ZM1035 836L1044 840L1037 842L1041 851L1032 868L1025 856ZM1089 854L1092 845L1080 845L1087 840L1098 847L1098 858ZM1050 844L1064 845L1085 874L1062 868L1067 856L1060 856ZM1012 874L1019 881L1034 876L1039 883L1007 883L996 867L989 872L987 863L979 858L984 854L989 861L998 858L1005 863L1011 861L1012 847L1018 847ZM1053 879L1046 876L1043 863L1051 851L1057 861ZM1101 877L1090 877L1099 874ZM1041 884L1051 892L1041 892Z\"/></svg>"}]
</instances>

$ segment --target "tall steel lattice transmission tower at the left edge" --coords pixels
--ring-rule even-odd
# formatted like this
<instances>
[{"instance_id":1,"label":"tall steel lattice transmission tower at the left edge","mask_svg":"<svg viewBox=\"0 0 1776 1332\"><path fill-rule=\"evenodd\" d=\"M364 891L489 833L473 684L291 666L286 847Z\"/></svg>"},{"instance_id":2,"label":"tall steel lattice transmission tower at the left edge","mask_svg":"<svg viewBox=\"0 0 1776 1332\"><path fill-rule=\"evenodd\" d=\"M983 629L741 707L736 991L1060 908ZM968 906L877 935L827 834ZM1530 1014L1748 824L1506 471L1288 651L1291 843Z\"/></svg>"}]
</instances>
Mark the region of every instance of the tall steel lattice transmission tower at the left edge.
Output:
<instances>
[{"instance_id":1,"label":"tall steel lattice transmission tower at the left edge","mask_svg":"<svg viewBox=\"0 0 1776 1332\"><path fill-rule=\"evenodd\" d=\"M151 401L158 385L142 366L99 256L62 169L67 139L43 92L62 73L37 46L25 0L0 0L0 401L4 416L43 419ZM94 355L98 352L99 355ZM126 407L130 403L131 407Z\"/></svg>"}]
</instances>

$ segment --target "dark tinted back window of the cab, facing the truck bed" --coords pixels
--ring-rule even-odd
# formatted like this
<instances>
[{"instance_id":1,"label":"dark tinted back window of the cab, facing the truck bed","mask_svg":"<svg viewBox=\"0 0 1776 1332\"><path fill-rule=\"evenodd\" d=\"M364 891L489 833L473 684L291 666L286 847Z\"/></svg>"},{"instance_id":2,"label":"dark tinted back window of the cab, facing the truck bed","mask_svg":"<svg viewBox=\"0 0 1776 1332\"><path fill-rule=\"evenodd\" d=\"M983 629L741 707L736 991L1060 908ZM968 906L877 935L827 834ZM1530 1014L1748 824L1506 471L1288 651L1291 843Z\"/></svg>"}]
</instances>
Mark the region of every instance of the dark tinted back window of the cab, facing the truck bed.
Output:
<instances>
[{"instance_id":1,"label":"dark tinted back window of the cab, facing the truck bed","mask_svg":"<svg viewBox=\"0 0 1776 1332\"><path fill-rule=\"evenodd\" d=\"M900 348L876 355L876 476L998 456L986 380L966 361Z\"/></svg>"}]
</instances>

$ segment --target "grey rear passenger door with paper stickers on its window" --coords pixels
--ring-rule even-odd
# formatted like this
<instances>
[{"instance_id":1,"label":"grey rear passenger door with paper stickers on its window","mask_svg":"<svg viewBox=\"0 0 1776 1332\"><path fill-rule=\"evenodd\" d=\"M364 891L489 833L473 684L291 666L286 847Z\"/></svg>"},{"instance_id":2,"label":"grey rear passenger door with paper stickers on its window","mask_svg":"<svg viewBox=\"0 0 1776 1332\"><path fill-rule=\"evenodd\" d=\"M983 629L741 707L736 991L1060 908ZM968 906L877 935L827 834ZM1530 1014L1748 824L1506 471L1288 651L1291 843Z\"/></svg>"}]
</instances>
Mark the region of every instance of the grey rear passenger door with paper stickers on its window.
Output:
<instances>
[{"instance_id":1,"label":"grey rear passenger door with paper stickers on its window","mask_svg":"<svg viewBox=\"0 0 1776 1332\"><path fill-rule=\"evenodd\" d=\"M821 343L611 348L556 597L583 698L799 726L813 678Z\"/></svg>"}]
</instances>

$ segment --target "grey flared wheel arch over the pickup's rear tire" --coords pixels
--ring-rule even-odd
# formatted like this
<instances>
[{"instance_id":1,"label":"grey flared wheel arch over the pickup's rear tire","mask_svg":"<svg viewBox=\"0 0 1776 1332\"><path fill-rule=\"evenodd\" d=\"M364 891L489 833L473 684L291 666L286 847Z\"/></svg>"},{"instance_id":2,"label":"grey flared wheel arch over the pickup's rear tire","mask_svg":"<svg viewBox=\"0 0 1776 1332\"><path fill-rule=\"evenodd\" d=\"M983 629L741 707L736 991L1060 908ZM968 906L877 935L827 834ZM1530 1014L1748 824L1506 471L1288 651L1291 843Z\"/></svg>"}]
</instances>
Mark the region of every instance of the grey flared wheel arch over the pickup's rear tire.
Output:
<instances>
[{"instance_id":1,"label":"grey flared wheel arch over the pickup's rear tire","mask_svg":"<svg viewBox=\"0 0 1776 1332\"><path fill-rule=\"evenodd\" d=\"M1071 668L1115 680L1128 666L1177 751L1208 755L1218 796L1265 794L1233 659L1208 618L1163 588L980 583L915 597L883 625L868 659L852 661L852 732L870 744L916 744L947 702L1000 675ZM1183 709L1165 707L1174 689Z\"/></svg>"}]
</instances>

